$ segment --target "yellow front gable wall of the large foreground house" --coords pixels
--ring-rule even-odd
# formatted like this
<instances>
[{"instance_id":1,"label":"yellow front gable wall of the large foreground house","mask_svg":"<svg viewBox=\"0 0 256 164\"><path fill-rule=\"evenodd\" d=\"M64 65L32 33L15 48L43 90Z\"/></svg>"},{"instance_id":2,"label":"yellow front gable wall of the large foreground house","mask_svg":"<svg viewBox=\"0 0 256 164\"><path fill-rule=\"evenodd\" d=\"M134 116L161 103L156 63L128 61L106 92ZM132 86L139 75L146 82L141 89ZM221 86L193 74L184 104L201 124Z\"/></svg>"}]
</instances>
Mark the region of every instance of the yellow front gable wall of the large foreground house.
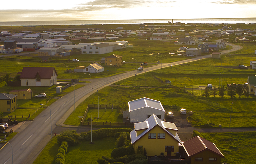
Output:
<instances>
[{"instance_id":1,"label":"yellow front gable wall of the large foreground house","mask_svg":"<svg viewBox=\"0 0 256 164\"><path fill-rule=\"evenodd\" d=\"M165 139L157 139L157 137L156 139L148 139L147 133L133 144L135 153L137 153L138 146L143 146L143 154L144 148L146 148L148 156L160 155L160 153L167 155L167 152L165 152L165 146L174 146L172 156L176 155L174 153L179 152L179 142L159 126L153 128L149 133L165 133Z\"/></svg>"}]
</instances>

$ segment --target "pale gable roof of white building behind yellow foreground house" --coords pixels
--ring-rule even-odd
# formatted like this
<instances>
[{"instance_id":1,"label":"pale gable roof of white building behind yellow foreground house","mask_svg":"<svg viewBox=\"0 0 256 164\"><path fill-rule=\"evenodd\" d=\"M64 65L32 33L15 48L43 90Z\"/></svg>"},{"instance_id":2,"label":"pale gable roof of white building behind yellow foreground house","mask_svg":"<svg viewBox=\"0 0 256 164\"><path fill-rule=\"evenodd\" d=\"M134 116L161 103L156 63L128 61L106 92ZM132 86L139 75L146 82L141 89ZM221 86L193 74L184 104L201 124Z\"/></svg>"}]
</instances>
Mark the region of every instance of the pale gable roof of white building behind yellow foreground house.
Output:
<instances>
[{"instance_id":1,"label":"pale gable roof of white building behind yellow foreground house","mask_svg":"<svg viewBox=\"0 0 256 164\"><path fill-rule=\"evenodd\" d=\"M160 101L157 100L153 100L150 98L139 98L137 100L132 100L128 102L128 106L129 106L129 111L134 111L134 110L138 110L144 107L151 107L151 108L155 108L161 111L164 111L163 106L161 104Z\"/></svg>"}]
</instances>

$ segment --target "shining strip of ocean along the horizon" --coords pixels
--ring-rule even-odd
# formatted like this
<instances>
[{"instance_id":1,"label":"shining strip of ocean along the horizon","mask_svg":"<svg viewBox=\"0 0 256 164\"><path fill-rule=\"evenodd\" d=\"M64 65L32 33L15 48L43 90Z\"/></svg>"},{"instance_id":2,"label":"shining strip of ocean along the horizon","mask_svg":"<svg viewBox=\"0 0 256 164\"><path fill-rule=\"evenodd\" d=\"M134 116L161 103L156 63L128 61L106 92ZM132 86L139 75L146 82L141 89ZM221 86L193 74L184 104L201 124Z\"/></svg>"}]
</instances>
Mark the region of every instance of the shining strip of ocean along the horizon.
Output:
<instances>
[{"instance_id":1,"label":"shining strip of ocean along the horizon","mask_svg":"<svg viewBox=\"0 0 256 164\"><path fill-rule=\"evenodd\" d=\"M172 19L141 19L141 20L69 20L69 21L20 21L0 22L0 26L46 26L46 25L100 25L100 24L144 24L168 23ZM210 23L236 24L256 23L256 18L211 18L211 19L173 19L173 23Z\"/></svg>"}]
</instances>

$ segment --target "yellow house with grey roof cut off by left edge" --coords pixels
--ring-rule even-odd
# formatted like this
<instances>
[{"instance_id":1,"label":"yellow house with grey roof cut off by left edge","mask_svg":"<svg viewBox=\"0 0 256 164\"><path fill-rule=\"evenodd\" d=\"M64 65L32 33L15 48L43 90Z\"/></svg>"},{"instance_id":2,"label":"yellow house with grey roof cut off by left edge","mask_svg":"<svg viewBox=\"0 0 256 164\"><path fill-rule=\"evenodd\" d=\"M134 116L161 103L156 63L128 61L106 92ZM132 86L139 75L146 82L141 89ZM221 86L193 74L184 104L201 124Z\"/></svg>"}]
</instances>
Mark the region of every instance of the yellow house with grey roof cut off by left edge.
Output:
<instances>
[{"instance_id":1,"label":"yellow house with grey roof cut off by left edge","mask_svg":"<svg viewBox=\"0 0 256 164\"><path fill-rule=\"evenodd\" d=\"M0 93L0 111L13 112L17 108L17 95Z\"/></svg>"}]
</instances>

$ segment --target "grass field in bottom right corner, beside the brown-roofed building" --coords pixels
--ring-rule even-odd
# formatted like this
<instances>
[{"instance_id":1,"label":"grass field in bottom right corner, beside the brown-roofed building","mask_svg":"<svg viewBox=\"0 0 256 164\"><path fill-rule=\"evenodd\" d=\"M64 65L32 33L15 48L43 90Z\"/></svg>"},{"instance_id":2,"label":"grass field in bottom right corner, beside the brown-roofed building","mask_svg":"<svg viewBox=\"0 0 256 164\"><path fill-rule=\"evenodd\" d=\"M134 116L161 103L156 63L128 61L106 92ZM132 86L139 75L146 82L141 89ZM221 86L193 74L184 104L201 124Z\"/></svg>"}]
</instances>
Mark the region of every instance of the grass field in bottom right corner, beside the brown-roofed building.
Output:
<instances>
[{"instance_id":1,"label":"grass field in bottom right corner, beside the brown-roofed building","mask_svg":"<svg viewBox=\"0 0 256 164\"><path fill-rule=\"evenodd\" d=\"M225 156L222 162L232 164L255 163L256 132L199 134L219 148Z\"/></svg>"}]
</instances>

